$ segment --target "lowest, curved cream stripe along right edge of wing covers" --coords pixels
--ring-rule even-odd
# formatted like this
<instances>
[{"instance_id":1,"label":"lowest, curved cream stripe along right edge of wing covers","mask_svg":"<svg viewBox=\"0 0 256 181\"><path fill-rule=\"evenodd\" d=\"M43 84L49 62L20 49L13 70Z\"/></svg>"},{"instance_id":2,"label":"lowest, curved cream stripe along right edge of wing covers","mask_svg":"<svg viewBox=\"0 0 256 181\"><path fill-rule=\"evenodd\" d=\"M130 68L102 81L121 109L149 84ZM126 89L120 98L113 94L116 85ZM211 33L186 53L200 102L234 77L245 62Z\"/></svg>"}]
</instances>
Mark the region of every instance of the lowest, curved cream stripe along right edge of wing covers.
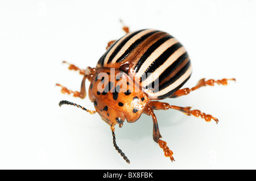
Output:
<instances>
[{"instance_id":1,"label":"lowest, curved cream stripe along right edge of wing covers","mask_svg":"<svg viewBox=\"0 0 256 181\"><path fill-rule=\"evenodd\" d=\"M185 79L187 79L189 77L189 75L192 72L192 67L191 65L189 66L188 70L179 78L177 79L177 81L175 81L174 83L172 83L170 86L164 88L163 90L159 91L159 92L155 92L154 94L151 93L152 97L157 98L158 96L167 94L168 92L174 90L177 86L181 85L182 82L185 81ZM149 93L149 92L148 92ZM149 93L150 94L150 93Z\"/></svg>"}]
</instances>

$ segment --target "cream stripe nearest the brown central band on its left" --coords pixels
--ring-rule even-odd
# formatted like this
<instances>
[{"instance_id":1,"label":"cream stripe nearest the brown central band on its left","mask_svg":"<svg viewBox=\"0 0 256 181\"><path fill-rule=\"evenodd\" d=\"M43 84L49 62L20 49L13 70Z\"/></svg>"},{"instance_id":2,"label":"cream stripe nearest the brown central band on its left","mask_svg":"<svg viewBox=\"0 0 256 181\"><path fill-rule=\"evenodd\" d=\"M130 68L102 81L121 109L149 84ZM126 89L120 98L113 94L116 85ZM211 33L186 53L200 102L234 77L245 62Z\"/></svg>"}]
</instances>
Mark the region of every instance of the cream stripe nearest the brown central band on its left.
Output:
<instances>
[{"instance_id":1,"label":"cream stripe nearest the brown central band on its left","mask_svg":"<svg viewBox=\"0 0 256 181\"><path fill-rule=\"evenodd\" d=\"M131 46L131 44L133 44L136 40L138 40L140 37L146 35L147 33L151 32L151 31L155 31L155 30L144 30L142 32L139 32L137 35L133 36L129 41L126 42L125 45L123 45L123 47L121 48L121 50L117 53L117 55L113 58L112 60L112 64L115 63L115 61L117 61L117 59L119 57L122 56L123 53L125 53L125 51Z\"/></svg>"}]
</instances>

